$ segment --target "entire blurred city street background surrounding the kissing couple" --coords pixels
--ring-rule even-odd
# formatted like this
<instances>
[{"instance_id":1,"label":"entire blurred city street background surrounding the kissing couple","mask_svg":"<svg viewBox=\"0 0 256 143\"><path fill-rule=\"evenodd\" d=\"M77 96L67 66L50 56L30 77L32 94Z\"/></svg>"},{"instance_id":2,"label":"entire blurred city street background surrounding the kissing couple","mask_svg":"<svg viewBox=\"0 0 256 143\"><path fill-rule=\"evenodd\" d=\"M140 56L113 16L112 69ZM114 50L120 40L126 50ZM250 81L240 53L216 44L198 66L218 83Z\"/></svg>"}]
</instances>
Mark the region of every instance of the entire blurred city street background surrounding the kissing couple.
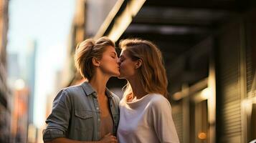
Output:
<instances>
[{"instance_id":1,"label":"entire blurred city street background surrounding the kissing couple","mask_svg":"<svg viewBox=\"0 0 256 143\"><path fill-rule=\"evenodd\" d=\"M138 37L161 49L180 142L256 139L255 0L0 0L0 142L42 142L75 46ZM118 51L120 52L120 51ZM124 80L108 88L122 98Z\"/></svg>"}]
</instances>

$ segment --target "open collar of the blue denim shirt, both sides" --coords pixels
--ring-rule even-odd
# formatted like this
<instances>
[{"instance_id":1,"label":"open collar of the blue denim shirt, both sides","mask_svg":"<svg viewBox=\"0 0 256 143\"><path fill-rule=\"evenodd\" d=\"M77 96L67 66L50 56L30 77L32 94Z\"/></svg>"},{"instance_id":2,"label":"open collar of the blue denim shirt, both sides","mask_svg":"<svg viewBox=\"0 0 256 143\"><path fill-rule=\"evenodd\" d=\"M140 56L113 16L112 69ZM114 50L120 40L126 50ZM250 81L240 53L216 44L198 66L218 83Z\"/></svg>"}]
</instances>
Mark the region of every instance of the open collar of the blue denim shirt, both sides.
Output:
<instances>
[{"instance_id":1,"label":"open collar of the blue denim shirt, both sides","mask_svg":"<svg viewBox=\"0 0 256 143\"><path fill-rule=\"evenodd\" d=\"M85 90L85 94L89 96L90 94L93 94L94 97L97 97L97 92L95 92L95 89L93 89L92 85L89 82L82 83L82 88ZM113 94L110 92L108 88L105 90L105 94L108 96L108 98L112 98Z\"/></svg>"}]
</instances>

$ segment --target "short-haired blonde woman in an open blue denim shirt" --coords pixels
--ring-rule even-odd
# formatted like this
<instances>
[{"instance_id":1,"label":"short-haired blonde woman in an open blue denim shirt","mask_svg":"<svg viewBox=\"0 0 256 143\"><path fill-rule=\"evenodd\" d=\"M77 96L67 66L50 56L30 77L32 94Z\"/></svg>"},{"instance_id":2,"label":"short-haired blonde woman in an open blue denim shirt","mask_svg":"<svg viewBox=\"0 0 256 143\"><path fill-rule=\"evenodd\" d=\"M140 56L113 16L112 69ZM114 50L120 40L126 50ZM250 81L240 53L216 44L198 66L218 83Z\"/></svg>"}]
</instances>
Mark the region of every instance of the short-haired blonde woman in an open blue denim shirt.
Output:
<instances>
[{"instance_id":1,"label":"short-haired blonde woman in an open blue denim shirt","mask_svg":"<svg viewBox=\"0 0 256 143\"><path fill-rule=\"evenodd\" d=\"M57 94L44 142L117 142L119 98L106 84L120 74L118 61L115 44L107 37L78 44L75 66L87 81Z\"/></svg>"}]
</instances>

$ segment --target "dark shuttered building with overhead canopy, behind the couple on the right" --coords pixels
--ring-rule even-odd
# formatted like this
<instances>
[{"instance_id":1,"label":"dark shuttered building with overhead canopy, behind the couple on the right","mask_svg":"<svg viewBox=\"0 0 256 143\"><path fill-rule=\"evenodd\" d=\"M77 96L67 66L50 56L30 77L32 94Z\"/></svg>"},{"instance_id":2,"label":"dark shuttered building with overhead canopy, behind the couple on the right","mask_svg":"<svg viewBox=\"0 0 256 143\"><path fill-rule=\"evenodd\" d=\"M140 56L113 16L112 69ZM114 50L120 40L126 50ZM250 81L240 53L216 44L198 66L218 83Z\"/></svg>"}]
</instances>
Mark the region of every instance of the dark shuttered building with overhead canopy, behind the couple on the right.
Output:
<instances>
[{"instance_id":1,"label":"dark shuttered building with overhead canopy, behind the couple on the right","mask_svg":"<svg viewBox=\"0 0 256 143\"><path fill-rule=\"evenodd\" d=\"M159 46L180 142L255 139L255 1L151 0L133 14L138 5L123 1L95 36Z\"/></svg>"}]
</instances>

